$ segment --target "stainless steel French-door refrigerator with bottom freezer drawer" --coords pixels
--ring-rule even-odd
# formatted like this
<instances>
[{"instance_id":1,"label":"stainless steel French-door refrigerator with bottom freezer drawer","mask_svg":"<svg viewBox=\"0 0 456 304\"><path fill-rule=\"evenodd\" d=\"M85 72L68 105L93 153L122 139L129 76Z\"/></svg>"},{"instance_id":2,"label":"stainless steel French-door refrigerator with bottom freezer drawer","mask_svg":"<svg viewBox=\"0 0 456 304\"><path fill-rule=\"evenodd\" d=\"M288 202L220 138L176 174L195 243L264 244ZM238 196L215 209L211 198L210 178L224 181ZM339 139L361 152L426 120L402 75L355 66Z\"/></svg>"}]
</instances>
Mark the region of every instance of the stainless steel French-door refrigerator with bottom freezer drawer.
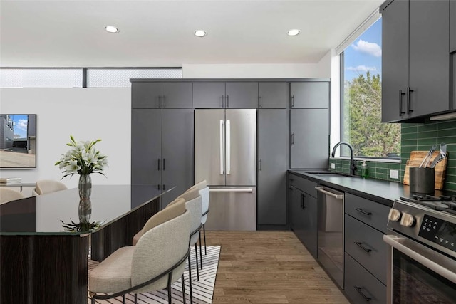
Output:
<instances>
[{"instance_id":1,"label":"stainless steel French-door refrigerator with bottom freezer drawer","mask_svg":"<svg viewBox=\"0 0 456 304\"><path fill-rule=\"evenodd\" d=\"M208 230L257 230L257 110L195 110L195 182L209 185Z\"/></svg>"}]
</instances>

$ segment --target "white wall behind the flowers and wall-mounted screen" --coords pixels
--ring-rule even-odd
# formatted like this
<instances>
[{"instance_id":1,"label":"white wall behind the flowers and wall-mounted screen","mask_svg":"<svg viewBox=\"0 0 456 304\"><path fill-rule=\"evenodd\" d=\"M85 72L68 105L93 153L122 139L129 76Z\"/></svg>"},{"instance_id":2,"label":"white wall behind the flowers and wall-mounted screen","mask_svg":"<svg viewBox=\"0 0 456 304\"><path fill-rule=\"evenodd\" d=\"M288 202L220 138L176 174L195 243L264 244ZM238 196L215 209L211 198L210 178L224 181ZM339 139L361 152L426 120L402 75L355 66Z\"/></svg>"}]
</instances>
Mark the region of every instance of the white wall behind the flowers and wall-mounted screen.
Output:
<instances>
[{"instance_id":1,"label":"white wall behind the flowers and wall-mounted screen","mask_svg":"<svg viewBox=\"0 0 456 304\"><path fill-rule=\"evenodd\" d=\"M92 174L93 184L130 184L130 100L130 88L1 88L1 113L37 115L38 152L36 169L1 169L0 177L21 177L26 183L61 179L54 164L73 135L102 140L96 146L108 155L109 167L106 177ZM78 187L78 176L62 182Z\"/></svg>"}]
</instances>

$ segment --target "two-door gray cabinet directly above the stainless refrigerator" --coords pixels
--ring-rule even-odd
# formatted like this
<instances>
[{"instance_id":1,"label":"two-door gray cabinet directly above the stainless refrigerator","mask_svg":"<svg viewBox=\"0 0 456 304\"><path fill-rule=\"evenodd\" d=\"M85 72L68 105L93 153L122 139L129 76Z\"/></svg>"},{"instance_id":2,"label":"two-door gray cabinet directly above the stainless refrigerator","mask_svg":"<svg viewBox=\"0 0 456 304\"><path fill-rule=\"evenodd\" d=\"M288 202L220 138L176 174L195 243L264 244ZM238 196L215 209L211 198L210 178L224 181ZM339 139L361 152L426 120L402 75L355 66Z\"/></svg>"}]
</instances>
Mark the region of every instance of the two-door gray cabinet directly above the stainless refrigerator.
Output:
<instances>
[{"instance_id":1,"label":"two-door gray cabinet directly above the stainless refrigerator","mask_svg":"<svg viewBox=\"0 0 456 304\"><path fill-rule=\"evenodd\" d=\"M258 108L257 82L194 82L195 108Z\"/></svg>"}]
</instances>

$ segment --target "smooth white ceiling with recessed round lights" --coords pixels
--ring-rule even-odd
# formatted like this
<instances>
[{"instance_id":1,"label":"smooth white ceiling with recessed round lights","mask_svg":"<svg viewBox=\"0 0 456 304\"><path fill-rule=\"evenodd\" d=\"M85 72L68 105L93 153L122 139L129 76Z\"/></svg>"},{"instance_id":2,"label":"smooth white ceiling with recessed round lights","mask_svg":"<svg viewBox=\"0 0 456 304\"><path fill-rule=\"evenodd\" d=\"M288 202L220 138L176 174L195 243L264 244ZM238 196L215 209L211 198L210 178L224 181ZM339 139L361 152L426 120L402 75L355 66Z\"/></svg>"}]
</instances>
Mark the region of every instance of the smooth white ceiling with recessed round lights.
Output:
<instances>
[{"instance_id":1,"label":"smooth white ceiling with recessed round lights","mask_svg":"<svg viewBox=\"0 0 456 304\"><path fill-rule=\"evenodd\" d=\"M317 63L382 2L1 0L0 66Z\"/></svg>"}]
</instances>

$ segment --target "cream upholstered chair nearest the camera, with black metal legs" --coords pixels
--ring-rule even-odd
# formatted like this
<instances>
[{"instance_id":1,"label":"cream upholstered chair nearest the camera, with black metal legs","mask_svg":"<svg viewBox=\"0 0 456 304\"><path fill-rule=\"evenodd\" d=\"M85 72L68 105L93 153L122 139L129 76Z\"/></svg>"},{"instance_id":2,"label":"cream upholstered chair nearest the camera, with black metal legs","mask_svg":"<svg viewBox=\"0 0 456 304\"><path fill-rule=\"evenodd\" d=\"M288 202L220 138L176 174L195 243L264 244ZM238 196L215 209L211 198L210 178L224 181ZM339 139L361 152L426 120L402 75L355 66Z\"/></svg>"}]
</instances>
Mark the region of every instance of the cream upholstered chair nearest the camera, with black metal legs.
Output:
<instances>
[{"instance_id":1,"label":"cream upholstered chair nearest the camera, with black metal legs","mask_svg":"<svg viewBox=\"0 0 456 304\"><path fill-rule=\"evenodd\" d=\"M182 203L183 204L183 203ZM119 248L96 266L89 276L89 295L95 299L116 298L125 294L167 288L171 303L171 284L182 279L185 303L184 270L189 256L190 211L165 221L143 234L136 246ZM103 293L103 294L100 294ZM107 294L107 295L105 295Z\"/></svg>"}]
</instances>

